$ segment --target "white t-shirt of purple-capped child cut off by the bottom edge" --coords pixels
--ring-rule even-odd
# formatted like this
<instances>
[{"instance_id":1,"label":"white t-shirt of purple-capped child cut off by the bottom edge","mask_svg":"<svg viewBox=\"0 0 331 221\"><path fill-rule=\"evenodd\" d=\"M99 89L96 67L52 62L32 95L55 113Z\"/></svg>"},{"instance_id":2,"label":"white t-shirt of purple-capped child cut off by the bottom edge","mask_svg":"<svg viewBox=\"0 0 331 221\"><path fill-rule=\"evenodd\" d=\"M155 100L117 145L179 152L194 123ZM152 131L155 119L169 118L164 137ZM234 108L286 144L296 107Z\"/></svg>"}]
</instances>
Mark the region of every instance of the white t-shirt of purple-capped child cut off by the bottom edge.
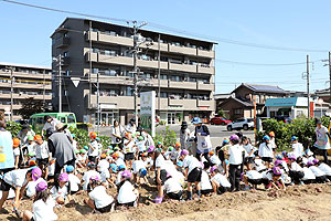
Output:
<instances>
[{"instance_id":1,"label":"white t-shirt of purple-capped child cut off by the bottom edge","mask_svg":"<svg viewBox=\"0 0 331 221\"><path fill-rule=\"evenodd\" d=\"M46 200L46 202L44 202L42 199L33 202L32 206L33 220L35 221L57 220L57 215L53 211L54 207L55 207L55 201L51 197Z\"/></svg>"}]
</instances>

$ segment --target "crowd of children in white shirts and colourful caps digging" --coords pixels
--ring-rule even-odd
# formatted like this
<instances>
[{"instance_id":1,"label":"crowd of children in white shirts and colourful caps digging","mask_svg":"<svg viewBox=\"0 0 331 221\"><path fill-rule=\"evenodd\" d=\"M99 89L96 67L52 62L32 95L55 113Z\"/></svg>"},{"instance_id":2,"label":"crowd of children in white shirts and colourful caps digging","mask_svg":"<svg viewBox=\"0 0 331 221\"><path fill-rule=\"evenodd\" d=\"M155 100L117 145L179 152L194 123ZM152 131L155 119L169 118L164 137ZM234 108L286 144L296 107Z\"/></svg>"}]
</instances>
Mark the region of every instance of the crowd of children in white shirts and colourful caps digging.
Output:
<instances>
[{"instance_id":1,"label":"crowd of children in white shirts and colourful caps digging","mask_svg":"<svg viewBox=\"0 0 331 221\"><path fill-rule=\"evenodd\" d=\"M264 136L258 148L245 136L232 135L214 150L199 156L177 143L164 147L147 145L143 133L126 133L122 146L103 147L96 133L89 144L75 144L75 166L66 165L54 176L54 160L47 141L40 135L28 137L25 168L1 177L2 208L10 189L14 190L13 209L23 220L56 220L53 208L73 202L72 196L86 192L86 207L105 213L122 207L137 207L139 187L156 186L156 203L164 200L192 200L227 191L256 188L282 189L290 185L323 183L331 179L329 165L303 150L292 137L292 151L275 156L275 134ZM13 139L13 155L20 140ZM122 147L122 148L120 148ZM74 148L74 147L73 147ZM15 160L19 160L15 158ZM56 179L51 182L52 179ZM241 187L244 183L244 187ZM109 194L107 190L116 190ZM26 190L26 191L25 191ZM115 192L115 191L113 191ZM20 212L20 200L33 199L32 212Z\"/></svg>"}]
</instances>

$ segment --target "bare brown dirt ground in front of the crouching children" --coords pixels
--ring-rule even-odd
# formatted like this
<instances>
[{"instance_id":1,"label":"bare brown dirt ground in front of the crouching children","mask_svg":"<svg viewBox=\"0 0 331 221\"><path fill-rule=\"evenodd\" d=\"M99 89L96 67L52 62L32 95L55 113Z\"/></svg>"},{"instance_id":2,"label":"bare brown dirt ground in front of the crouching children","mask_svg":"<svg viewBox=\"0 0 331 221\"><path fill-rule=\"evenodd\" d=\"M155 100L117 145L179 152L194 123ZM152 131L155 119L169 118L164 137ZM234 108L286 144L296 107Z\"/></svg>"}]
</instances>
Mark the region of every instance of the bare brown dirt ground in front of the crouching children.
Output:
<instances>
[{"instance_id":1,"label":"bare brown dirt ground in front of the crouching children","mask_svg":"<svg viewBox=\"0 0 331 221\"><path fill-rule=\"evenodd\" d=\"M151 191L152 189L150 189ZM149 203L150 191L141 190L141 204L136 209L92 214L84 203L86 194L75 196L76 203L55 209L58 220L331 220L331 183L289 187L281 191L225 193L190 202ZM142 203L143 202L143 203ZM8 201L10 203L10 201ZM147 204L146 204L147 203ZM21 209L30 209L23 200ZM0 220L18 220L8 212Z\"/></svg>"}]
</instances>

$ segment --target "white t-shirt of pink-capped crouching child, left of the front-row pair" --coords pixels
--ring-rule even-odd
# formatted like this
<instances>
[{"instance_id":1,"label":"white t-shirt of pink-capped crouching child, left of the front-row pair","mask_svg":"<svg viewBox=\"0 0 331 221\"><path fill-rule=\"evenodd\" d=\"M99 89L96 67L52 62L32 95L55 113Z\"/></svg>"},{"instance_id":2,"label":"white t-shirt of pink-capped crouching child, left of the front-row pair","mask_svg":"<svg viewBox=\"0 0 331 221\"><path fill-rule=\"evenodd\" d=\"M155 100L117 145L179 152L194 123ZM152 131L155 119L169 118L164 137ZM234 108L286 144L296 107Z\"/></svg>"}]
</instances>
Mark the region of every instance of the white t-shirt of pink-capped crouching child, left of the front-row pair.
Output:
<instances>
[{"instance_id":1,"label":"white t-shirt of pink-capped crouching child, left of the front-row pair","mask_svg":"<svg viewBox=\"0 0 331 221\"><path fill-rule=\"evenodd\" d=\"M106 187L104 186L94 188L88 196L94 201L97 209L105 208L114 202L114 198L107 194Z\"/></svg>"}]
</instances>

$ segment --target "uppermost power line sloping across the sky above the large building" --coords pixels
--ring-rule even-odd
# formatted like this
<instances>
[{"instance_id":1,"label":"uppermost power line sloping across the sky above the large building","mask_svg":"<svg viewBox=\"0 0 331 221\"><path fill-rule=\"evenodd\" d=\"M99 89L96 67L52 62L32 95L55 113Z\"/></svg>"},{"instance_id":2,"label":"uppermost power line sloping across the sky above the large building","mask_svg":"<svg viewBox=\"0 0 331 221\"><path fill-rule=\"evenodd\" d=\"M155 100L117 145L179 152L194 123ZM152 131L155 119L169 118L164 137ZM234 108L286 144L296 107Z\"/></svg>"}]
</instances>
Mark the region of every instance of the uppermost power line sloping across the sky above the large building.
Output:
<instances>
[{"instance_id":1,"label":"uppermost power line sloping across the sky above the large building","mask_svg":"<svg viewBox=\"0 0 331 221\"><path fill-rule=\"evenodd\" d=\"M130 20L127 20L127 19L117 19L117 18L100 17L100 15L94 15L94 14L87 14L87 13L81 13L81 12L73 12L73 11L53 9L53 8L47 8L47 7L41 7L41 6L36 6L36 4L30 4L30 3L12 1L12 0L0 0L0 1L7 2L7 3L24 6L24 7L30 7L30 8L35 8L35 9L41 9L41 10L47 10L47 11L60 12L60 13L68 13L68 14L75 14L75 15L79 15L79 17L87 17L87 18L94 18L94 19L118 21L118 22L128 22L128 21L130 21ZM217 38L217 36L212 36L212 35L200 34L200 33L195 33L195 32L183 31L183 30L180 30L180 29L174 29L174 28L163 25L163 24L158 24L158 23L154 23L154 22L148 22L148 23L149 23L150 27L153 27L153 28L157 28L157 29L160 29L160 30L171 31L171 32L174 32L174 33L202 38L202 39L206 39L206 40L211 40L211 41L215 41L215 42L227 43L227 44L235 44L235 45L258 48L258 49L267 49L267 50L278 50L278 51L329 52L328 50L314 50L314 49L301 49L301 48L289 48L289 46L268 45L268 44L257 44L257 43L252 43L252 42L244 42L244 41L237 41L237 40L231 40L231 39L224 39L224 38Z\"/></svg>"}]
</instances>

